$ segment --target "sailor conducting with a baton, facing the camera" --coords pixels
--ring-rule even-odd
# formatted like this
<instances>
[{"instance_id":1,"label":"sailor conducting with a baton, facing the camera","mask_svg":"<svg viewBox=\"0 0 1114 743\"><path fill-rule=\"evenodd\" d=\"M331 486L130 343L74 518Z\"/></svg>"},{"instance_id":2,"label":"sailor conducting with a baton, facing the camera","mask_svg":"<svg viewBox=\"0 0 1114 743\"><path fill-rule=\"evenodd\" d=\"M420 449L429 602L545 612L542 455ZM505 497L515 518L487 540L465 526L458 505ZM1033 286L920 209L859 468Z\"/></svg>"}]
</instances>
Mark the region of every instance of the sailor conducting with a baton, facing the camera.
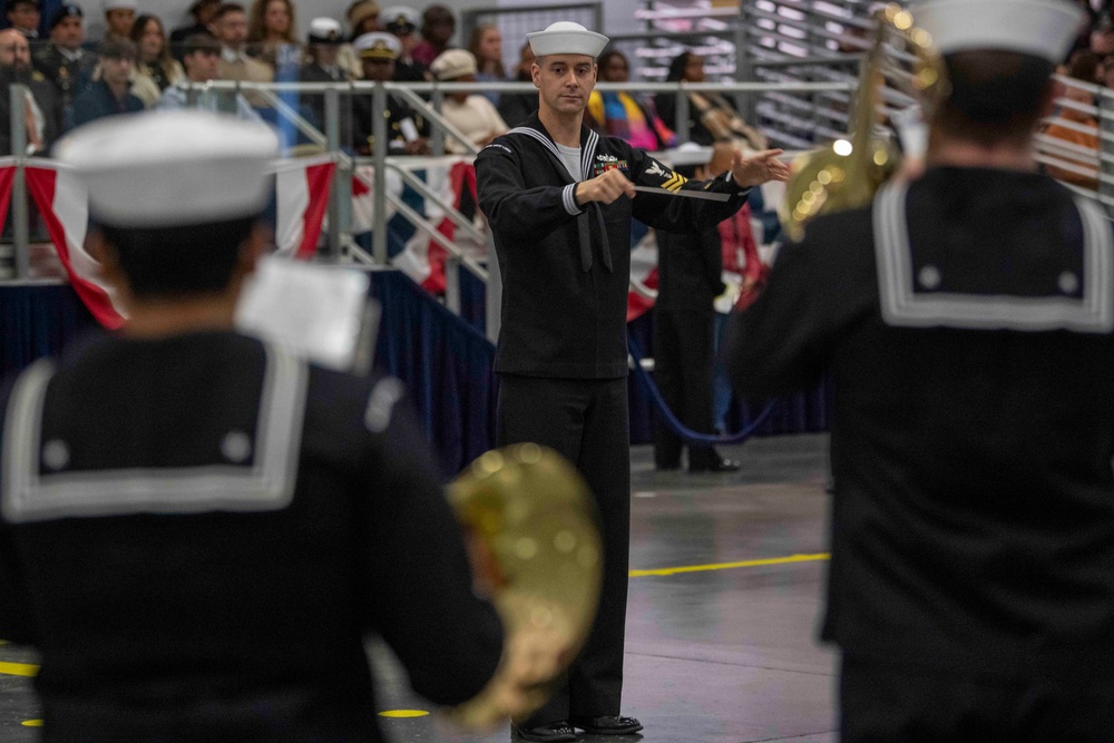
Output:
<instances>
[{"instance_id":1,"label":"sailor conducting with a baton, facing the camera","mask_svg":"<svg viewBox=\"0 0 1114 743\"><path fill-rule=\"evenodd\" d=\"M631 218L675 232L712 229L751 186L784 178L769 150L690 182L584 126L607 37L577 23L528 35L539 110L480 151L480 208L495 236L504 293L495 370L500 446L534 441L574 462L596 498L603 595L592 635L549 704L518 721L529 741L575 741L575 729L627 734L619 714L631 519L626 303ZM656 193L638 193L635 186ZM723 201L685 198L695 193Z\"/></svg>"}]
</instances>

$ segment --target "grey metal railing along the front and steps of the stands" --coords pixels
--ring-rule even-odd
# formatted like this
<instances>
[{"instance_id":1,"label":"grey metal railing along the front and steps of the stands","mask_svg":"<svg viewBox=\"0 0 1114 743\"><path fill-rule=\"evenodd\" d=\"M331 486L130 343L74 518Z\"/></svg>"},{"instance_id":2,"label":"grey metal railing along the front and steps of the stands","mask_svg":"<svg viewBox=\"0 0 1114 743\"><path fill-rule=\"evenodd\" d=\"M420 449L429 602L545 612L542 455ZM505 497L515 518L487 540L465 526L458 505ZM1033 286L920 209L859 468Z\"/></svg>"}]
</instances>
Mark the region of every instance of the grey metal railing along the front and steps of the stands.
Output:
<instances>
[{"instance_id":1,"label":"grey metal railing along the front and steps of the stands","mask_svg":"<svg viewBox=\"0 0 1114 743\"><path fill-rule=\"evenodd\" d=\"M780 69L791 65L815 65L817 59L798 59L774 61L769 65L771 69ZM687 138L687 121L690 116L687 96L688 91L716 91L724 95L759 96L762 99L779 101L776 114L781 119L771 116L762 126L763 131L774 144L786 146L786 148L807 148L818 144L821 139L828 139L847 134L847 115L851 92L854 81L848 79L828 81L793 81L780 80L770 81L747 81L734 84L687 84L687 82L626 82L626 84L599 84L596 86L600 91L625 90L632 94L666 94L674 95L677 100L676 119L667 121L677 133L683 141ZM1095 168L1100 184L1097 193L1089 192L1088 195L1097 198L1108 209L1114 211L1114 92L1089 86L1087 88L1096 98L1097 105L1087 106L1069 100L1062 101L1065 108L1082 110L1095 118L1097 125L1083 125L1072 121L1061 121L1066 128L1085 130L1095 134L1101 141L1101 153L1095 154ZM26 153L26 130L21 126L23 123L23 107L26 106L26 92L19 86L12 86L10 91L12 110L12 146L14 160L17 164L14 187L12 192L12 235L13 235L13 267L14 277L27 281L30 276L29 267L29 227L28 227L28 195L23 169L29 158ZM234 81L214 81L203 86L194 86L190 90L199 91L222 91L233 95L252 91L264 96L275 106L276 116L302 136L306 143L314 147L332 153L338 164L334 182L332 184L329 205L329 228L326 239L321 250L321 260L333 262L356 262L373 266L387 266L388 258L388 225L383 215L390 209L401 215L403 219L413 225L418 231L428 235L431 241L444 248L449 255L447 272L450 274L447 290L446 304L451 310L459 312L459 286L452 281L452 275L463 268L470 272L481 282L488 285L488 335L495 338L498 331L498 278L499 272L495 268L494 250L490 234L481 228L477 228L472 221L459 213L453 204L446 203L444 199L430 188L418 175L423 166L442 162L437 156L443 153L444 137L456 137L466 143L466 150L475 155L477 149L467 141L451 123L447 121L439 113L439 106L447 94L461 90L497 90L501 94L531 94L536 95L536 89L530 84L518 82L482 82L482 84L378 84L378 82L320 82L320 84L297 84L297 82L273 82L273 84L248 84ZM306 96L323 96L324 120L321 127L309 120L295 107L284 102L281 94L296 91ZM372 114L373 149L369 155L355 154L349 145L352 143L342 141L342 131L346 128L346 123L342 116L342 99L350 96L370 96L372 99L372 111L383 111L388 95L397 95L404 98L411 106L419 108L424 117L432 124L434 136L432 137L434 157L421 158L409 156L394 156L388 151L387 143L387 120L383 116ZM428 97L428 100L423 97ZM802 96L818 96L815 102L809 102ZM819 98L823 96L824 98ZM795 97L795 98L794 98ZM821 104L828 101L831 105ZM846 106L846 107L844 107ZM1058 119L1054 119L1058 120ZM783 126L779 126L779 121ZM1067 170L1079 172L1091 175L1092 170L1085 166L1079 166L1078 160L1088 153L1086 148L1078 145L1052 141L1049 137L1039 137L1038 144L1040 153L1038 158L1042 163L1052 166L1063 166ZM1072 157L1074 156L1074 157ZM1075 162L1072 162L1075 160ZM367 167L370 166L370 169ZM434 204L438 209L449 218L461 238L475 245L487 247L487 255L476 255L470 253L457 241L448 239L438 231L437 225L419 214L416 209L388 193L388 173L397 174L402 182L417 192L427 203ZM370 174L370 175L369 175ZM373 213L375 218L371 229L371 250L361 248L352 234L352 180L364 179L372 189Z\"/></svg>"}]
</instances>

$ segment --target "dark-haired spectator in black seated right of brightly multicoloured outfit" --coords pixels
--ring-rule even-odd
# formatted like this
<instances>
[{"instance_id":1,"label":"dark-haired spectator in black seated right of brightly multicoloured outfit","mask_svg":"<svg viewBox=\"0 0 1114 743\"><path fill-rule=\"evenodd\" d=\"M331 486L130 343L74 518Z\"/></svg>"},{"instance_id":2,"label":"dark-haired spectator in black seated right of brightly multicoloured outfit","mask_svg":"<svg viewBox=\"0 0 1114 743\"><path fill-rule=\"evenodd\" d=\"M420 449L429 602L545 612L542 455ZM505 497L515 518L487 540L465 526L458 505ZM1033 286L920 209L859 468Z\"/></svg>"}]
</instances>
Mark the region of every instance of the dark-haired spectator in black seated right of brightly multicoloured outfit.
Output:
<instances>
[{"instance_id":1,"label":"dark-haired spectator in black seated right of brightly multicoloured outfit","mask_svg":"<svg viewBox=\"0 0 1114 743\"><path fill-rule=\"evenodd\" d=\"M704 82L704 58L692 51L682 51L670 63L667 82L681 80L687 82ZM697 145L735 145L744 149L762 150L766 148L766 138L758 129L751 127L735 110L731 102L717 92L688 91L688 139ZM666 125L677 126L677 98L673 92L661 92L654 97L654 106ZM716 153L716 160L726 148ZM720 166L713 162L713 170ZM724 168L725 169L725 168Z\"/></svg>"}]
</instances>

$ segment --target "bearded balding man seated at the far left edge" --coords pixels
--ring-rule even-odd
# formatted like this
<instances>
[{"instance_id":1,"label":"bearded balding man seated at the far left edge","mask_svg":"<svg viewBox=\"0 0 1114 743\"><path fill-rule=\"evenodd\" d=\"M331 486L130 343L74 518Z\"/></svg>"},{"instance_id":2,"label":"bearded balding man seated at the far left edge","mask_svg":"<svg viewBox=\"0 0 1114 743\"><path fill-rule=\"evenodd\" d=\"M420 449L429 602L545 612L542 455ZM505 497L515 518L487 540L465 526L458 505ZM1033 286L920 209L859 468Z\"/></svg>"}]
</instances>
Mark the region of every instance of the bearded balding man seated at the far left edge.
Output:
<instances>
[{"instance_id":1,"label":"bearded balding man seated at the far left edge","mask_svg":"<svg viewBox=\"0 0 1114 743\"><path fill-rule=\"evenodd\" d=\"M61 96L49 80L31 67L31 47L16 29L0 31L0 155L11 155L11 94L14 84L26 85L30 96L25 107L27 155L46 155L62 128Z\"/></svg>"}]
</instances>

